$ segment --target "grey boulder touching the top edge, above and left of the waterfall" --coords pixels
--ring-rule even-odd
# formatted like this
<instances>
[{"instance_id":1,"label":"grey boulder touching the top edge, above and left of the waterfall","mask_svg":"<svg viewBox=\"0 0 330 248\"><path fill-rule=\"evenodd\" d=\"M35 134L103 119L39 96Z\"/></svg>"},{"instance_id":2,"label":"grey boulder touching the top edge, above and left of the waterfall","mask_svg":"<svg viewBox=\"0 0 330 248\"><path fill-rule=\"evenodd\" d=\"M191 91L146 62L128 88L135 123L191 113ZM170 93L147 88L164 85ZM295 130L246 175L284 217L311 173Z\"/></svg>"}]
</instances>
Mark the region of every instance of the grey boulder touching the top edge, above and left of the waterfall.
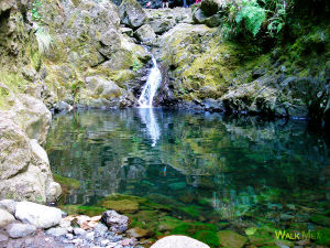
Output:
<instances>
[{"instance_id":1,"label":"grey boulder touching the top edge, above and left of the waterfall","mask_svg":"<svg viewBox=\"0 0 330 248\"><path fill-rule=\"evenodd\" d=\"M123 0L119 7L121 22L132 29L136 29L146 20L146 14L135 0Z\"/></svg>"}]
</instances>

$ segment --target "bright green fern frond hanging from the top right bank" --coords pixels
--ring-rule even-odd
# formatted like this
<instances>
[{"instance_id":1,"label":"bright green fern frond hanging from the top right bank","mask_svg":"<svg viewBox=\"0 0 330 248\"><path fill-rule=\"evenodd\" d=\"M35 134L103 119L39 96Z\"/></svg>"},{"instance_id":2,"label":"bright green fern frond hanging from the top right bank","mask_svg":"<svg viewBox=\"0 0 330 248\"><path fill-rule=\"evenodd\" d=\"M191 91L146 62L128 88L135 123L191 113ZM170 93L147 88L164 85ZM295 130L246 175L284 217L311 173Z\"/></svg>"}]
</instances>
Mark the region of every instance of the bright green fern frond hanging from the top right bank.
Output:
<instances>
[{"instance_id":1,"label":"bright green fern frond hanging from the top right bank","mask_svg":"<svg viewBox=\"0 0 330 248\"><path fill-rule=\"evenodd\" d=\"M244 21L245 28L255 36L266 19L266 11L255 0L244 0L242 4L237 13L235 21L238 24Z\"/></svg>"}]
</instances>

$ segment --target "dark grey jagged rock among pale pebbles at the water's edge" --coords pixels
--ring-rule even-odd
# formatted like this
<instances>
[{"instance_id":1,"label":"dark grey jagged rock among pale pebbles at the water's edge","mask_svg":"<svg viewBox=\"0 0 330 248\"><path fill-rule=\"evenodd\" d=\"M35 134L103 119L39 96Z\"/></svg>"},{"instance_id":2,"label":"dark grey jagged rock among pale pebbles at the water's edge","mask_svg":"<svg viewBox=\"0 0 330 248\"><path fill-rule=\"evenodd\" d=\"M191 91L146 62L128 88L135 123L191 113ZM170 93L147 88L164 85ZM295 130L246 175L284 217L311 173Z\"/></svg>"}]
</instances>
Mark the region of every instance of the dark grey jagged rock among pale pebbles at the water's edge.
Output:
<instances>
[{"instance_id":1,"label":"dark grey jagged rock among pale pebbles at the water's edge","mask_svg":"<svg viewBox=\"0 0 330 248\"><path fill-rule=\"evenodd\" d=\"M107 211L102 214L102 219L110 230L123 233L129 227L129 217L118 214L116 211Z\"/></svg>"}]
</instances>

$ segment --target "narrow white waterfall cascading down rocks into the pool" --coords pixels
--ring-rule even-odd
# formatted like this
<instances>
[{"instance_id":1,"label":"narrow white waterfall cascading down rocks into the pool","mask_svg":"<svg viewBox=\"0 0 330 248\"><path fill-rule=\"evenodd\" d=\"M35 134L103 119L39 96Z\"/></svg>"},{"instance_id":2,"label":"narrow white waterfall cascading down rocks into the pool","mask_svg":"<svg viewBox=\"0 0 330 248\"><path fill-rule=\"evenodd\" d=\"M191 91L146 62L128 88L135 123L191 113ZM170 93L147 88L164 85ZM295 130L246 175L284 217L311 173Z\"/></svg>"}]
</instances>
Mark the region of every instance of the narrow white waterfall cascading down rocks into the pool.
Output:
<instances>
[{"instance_id":1,"label":"narrow white waterfall cascading down rocks into the pool","mask_svg":"<svg viewBox=\"0 0 330 248\"><path fill-rule=\"evenodd\" d=\"M147 80L143 86L141 96L139 98L139 105L142 108L152 108L153 107L153 99L157 93L157 89L162 83L162 73L157 66L157 62L153 60L153 67L148 74Z\"/></svg>"}]
</instances>

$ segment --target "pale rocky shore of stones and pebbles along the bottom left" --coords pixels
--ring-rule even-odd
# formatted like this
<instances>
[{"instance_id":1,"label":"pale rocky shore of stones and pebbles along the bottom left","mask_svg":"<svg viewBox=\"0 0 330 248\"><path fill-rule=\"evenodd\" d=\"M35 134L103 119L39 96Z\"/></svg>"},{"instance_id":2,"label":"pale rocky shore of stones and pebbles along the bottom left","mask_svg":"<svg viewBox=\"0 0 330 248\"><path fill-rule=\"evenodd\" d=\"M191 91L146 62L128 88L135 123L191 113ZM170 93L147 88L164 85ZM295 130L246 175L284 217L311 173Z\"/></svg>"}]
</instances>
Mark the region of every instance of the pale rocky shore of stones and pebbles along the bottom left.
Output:
<instances>
[{"instance_id":1,"label":"pale rocky shore of stones and pebbles along the bottom left","mask_svg":"<svg viewBox=\"0 0 330 248\"><path fill-rule=\"evenodd\" d=\"M59 208L32 202L0 201L0 247L107 247L142 248L148 237L140 228L129 228L129 217L116 211L102 215L69 215ZM153 248L209 246L185 236L168 236Z\"/></svg>"}]
</instances>

